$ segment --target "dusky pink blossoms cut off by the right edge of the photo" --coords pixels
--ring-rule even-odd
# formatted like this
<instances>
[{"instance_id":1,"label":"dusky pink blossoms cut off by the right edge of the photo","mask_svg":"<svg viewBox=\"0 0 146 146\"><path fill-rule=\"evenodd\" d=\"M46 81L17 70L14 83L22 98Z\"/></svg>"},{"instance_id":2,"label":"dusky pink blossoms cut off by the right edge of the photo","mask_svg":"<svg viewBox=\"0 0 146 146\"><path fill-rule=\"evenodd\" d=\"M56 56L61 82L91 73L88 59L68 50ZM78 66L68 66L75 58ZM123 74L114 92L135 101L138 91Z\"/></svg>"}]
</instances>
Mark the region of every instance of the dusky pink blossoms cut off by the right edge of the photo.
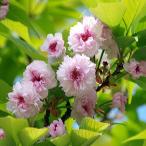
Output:
<instances>
[{"instance_id":1,"label":"dusky pink blossoms cut off by the right edge of the photo","mask_svg":"<svg viewBox=\"0 0 146 146\"><path fill-rule=\"evenodd\" d=\"M146 61L139 62L132 59L129 63L124 64L124 69L136 79L141 76L146 76Z\"/></svg>"}]
</instances>

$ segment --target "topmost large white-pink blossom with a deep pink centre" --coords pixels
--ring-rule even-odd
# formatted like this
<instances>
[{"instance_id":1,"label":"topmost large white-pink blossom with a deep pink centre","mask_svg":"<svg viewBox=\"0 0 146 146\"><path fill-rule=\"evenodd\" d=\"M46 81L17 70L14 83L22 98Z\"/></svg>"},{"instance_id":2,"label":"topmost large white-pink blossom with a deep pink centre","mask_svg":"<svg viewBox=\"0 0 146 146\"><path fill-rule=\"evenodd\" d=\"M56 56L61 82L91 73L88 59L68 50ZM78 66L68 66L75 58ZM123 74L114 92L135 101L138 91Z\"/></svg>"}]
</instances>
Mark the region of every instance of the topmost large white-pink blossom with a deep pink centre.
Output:
<instances>
[{"instance_id":1,"label":"topmost large white-pink blossom with a deep pink centre","mask_svg":"<svg viewBox=\"0 0 146 146\"><path fill-rule=\"evenodd\" d=\"M83 53L89 57L93 57L99 48L97 42L98 20L94 17L86 16L83 22L78 22L71 27L68 37L68 43L75 53Z\"/></svg>"}]
</instances>

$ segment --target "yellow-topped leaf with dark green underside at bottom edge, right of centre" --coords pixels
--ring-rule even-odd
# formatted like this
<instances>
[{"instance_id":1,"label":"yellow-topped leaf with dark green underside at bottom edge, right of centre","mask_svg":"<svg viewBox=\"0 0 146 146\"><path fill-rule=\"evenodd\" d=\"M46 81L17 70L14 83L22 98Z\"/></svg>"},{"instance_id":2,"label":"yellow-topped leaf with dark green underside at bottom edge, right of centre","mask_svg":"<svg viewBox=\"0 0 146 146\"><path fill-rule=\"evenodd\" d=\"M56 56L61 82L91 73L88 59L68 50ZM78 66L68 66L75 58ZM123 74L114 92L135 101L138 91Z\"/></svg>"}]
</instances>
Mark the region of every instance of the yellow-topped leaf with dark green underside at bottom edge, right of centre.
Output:
<instances>
[{"instance_id":1,"label":"yellow-topped leaf with dark green underside at bottom edge, right of centre","mask_svg":"<svg viewBox=\"0 0 146 146\"><path fill-rule=\"evenodd\" d=\"M101 135L100 133L84 129L72 130L71 132L72 146L81 146L90 138L97 137L100 135Z\"/></svg>"}]
</instances>

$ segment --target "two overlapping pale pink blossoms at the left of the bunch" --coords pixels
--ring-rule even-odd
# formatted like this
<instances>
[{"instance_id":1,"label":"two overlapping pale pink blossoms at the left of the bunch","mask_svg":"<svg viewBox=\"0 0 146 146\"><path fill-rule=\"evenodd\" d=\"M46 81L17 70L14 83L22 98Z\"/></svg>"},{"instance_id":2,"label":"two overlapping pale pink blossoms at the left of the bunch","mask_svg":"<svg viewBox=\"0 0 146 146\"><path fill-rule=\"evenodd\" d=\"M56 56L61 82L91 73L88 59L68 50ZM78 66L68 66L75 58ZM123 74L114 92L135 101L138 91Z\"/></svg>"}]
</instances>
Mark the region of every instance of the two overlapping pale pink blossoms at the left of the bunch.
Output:
<instances>
[{"instance_id":1,"label":"two overlapping pale pink blossoms at the left of the bunch","mask_svg":"<svg viewBox=\"0 0 146 146\"><path fill-rule=\"evenodd\" d=\"M48 89L56 86L55 73L43 61L35 60L26 67L22 82L17 82L8 94L7 108L16 117L29 118L41 109Z\"/></svg>"}]
</instances>

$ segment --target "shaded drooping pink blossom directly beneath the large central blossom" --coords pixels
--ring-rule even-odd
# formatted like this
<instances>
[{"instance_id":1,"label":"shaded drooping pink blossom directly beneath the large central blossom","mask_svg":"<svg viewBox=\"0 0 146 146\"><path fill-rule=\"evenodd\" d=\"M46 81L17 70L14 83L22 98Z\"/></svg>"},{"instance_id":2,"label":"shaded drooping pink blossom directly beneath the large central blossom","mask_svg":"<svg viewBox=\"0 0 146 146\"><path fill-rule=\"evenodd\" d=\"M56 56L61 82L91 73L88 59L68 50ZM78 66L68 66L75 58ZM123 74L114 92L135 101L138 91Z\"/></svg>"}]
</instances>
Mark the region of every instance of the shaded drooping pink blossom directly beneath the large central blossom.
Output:
<instances>
[{"instance_id":1,"label":"shaded drooping pink blossom directly beneath the large central blossom","mask_svg":"<svg viewBox=\"0 0 146 146\"><path fill-rule=\"evenodd\" d=\"M72 108L72 117L74 117L78 122L83 117L93 117L96 98L95 90L90 90L83 96L76 97Z\"/></svg>"}]
</instances>

